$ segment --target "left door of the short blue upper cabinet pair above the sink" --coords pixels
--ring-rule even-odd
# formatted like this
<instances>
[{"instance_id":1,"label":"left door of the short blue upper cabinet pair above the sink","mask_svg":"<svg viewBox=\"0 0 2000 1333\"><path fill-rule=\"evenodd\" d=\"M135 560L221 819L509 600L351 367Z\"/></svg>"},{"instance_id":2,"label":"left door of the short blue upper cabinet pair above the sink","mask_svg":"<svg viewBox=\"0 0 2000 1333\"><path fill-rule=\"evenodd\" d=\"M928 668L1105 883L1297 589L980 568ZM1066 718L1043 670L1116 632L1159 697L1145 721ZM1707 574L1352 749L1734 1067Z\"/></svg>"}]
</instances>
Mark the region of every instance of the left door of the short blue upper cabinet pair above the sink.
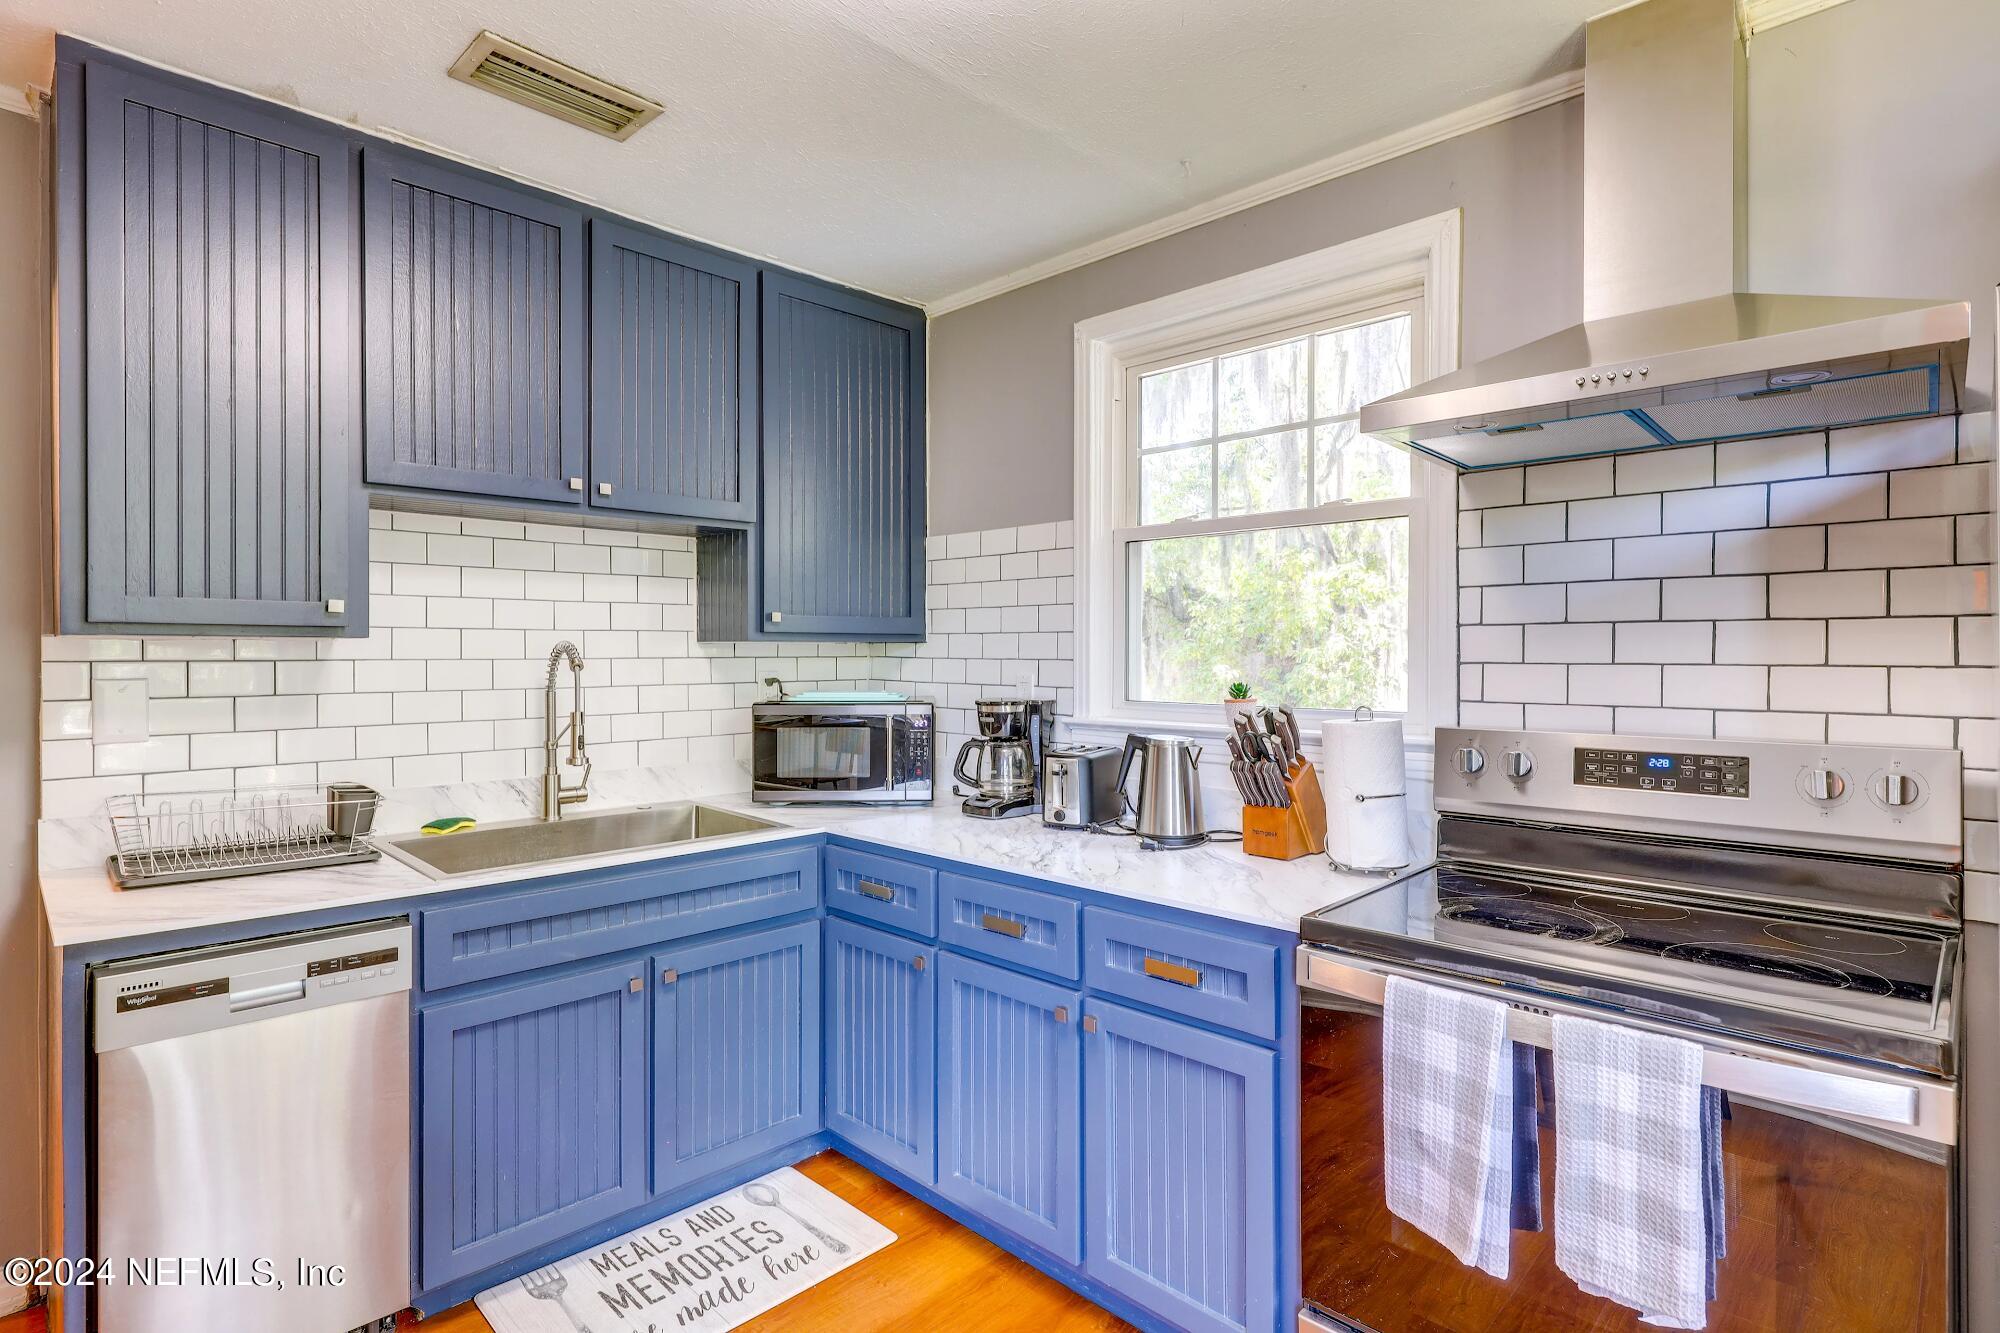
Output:
<instances>
[{"instance_id":1,"label":"left door of the short blue upper cabinet pair above the sink","mask_svg":"<svg viewBox=\"0 0 2000 1333\"><path fill-rule=\"evenodd\" d=\"M370 146L362 246L368 480L580 504L584 210Z\"/></svg>"}]
</instances>

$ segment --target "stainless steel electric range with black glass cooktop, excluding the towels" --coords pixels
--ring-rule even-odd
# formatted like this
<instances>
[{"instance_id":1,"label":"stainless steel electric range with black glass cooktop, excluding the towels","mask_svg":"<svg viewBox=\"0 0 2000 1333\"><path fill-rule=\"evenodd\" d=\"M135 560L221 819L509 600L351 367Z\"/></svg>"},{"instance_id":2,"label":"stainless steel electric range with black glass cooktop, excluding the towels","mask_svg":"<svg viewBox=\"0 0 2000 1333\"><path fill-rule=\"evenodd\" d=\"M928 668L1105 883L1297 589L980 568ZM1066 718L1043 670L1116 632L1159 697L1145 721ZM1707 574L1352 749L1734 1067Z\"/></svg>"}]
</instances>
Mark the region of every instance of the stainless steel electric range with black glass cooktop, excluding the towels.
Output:
<instances>
[{"instance_id":1,"label":"stainless steel electric range with black glass cooktop, excluding the towels","mask_svg":"<svg viewBox=\"0 0 2000 1333\"><path fill-rule=\"evenodd\" d=\"M1702 1047L1742 1233L1710 1327L1952 1327L1960 769L1916 747L1440 729L1436 865L1300 923L1300 1327L1640 1327L1546 1233L1514 1237L1500 1281L1388 1215L1388 977L1504 1001L1516 1043L1580 1015Z\"/></svg>"}]
</instances>

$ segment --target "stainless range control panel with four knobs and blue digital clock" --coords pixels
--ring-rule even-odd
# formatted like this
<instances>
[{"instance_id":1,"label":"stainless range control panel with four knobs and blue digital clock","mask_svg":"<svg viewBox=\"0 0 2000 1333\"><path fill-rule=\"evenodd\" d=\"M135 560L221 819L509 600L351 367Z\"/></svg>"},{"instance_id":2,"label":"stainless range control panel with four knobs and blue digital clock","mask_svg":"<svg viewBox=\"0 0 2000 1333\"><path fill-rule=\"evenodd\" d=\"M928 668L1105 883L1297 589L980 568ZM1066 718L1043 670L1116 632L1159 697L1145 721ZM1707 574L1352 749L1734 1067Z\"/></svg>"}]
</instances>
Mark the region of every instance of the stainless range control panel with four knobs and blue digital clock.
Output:
<instances>
[{"instance_id":1,"label":"stainless range control panel with four knobs and blue digital clock","mask_svg":"<svg viewBox=\"0 0 2000 1333\"><path fill-rule=\"evenodd\" d=\"M1440 815L1964 857L1958 751L1512 727L1440 727L1436 739Z\"/></svg>"}]
</instances>

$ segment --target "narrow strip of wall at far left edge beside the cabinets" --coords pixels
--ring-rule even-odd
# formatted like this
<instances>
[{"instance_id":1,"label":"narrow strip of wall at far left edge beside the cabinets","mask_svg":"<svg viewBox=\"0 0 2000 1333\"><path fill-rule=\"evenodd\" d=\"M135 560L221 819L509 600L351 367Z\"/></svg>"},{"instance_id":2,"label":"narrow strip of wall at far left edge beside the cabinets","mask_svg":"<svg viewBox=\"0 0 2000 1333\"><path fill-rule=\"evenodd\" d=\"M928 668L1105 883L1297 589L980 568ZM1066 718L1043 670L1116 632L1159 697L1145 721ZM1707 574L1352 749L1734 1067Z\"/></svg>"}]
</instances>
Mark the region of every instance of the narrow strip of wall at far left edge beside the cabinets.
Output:
<instances>
[{"instance_id":1,"label":"narrow strip of wall at far left edge beside the cabinets","mask_svg":"<svg viewBox=\"0 0 2000 1333\"><path fill-rule=\"evenodd\" d=\"M34 875L48 476L48 280L42 132L0 114L0 1255L42 1251L42 901ZM0 1287L0 1309L18 1291Z\"/></svg>"}]
</instances>

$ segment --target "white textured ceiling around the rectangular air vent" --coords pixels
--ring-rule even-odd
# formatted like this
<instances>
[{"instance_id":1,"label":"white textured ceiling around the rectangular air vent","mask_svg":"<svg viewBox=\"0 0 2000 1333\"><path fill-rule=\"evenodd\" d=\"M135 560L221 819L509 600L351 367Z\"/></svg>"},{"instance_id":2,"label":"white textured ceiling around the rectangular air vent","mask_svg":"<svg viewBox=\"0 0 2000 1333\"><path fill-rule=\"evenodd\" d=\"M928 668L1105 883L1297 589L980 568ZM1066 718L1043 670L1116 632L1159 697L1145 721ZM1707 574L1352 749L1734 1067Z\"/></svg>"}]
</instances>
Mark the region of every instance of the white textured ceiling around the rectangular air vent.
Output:
<instances>
[{"instance_id":1,"label":"white textured ceiling around the rectangular air vent","mask_svg":"<svg viewBox=\"0 0 2000 1333\"><path fill-rule=\"evenodd\" d=\"M1606 0L0 0L660 226L934 302L1582 62ZM654 96L614 144L444 70L480 28Z\"/></svg>"}]
</instances>

